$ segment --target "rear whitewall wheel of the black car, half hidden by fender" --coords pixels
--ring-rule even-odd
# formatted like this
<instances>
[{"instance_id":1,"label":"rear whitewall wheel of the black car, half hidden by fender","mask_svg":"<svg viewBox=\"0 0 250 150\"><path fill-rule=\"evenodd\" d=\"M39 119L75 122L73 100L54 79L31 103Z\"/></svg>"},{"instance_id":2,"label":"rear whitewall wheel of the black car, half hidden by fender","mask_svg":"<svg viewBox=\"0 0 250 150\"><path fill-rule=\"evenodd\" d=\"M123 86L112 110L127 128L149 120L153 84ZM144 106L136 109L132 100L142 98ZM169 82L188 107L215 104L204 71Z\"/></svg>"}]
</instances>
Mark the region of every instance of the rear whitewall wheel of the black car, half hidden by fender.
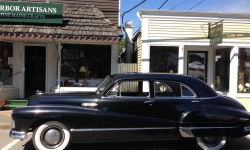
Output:
<instances>
[{"instance_id":1,"label":"rear whitewall wheel of the black car, half hidden by fender","mask_svg":"<svg viewBox=\"0 0 250 150\"><path fill-rule=\"evenodd\" d=\"M203 150L220 150L226 145L226 136L196 137L197 145Z\"/></svg>"}]
</instances>

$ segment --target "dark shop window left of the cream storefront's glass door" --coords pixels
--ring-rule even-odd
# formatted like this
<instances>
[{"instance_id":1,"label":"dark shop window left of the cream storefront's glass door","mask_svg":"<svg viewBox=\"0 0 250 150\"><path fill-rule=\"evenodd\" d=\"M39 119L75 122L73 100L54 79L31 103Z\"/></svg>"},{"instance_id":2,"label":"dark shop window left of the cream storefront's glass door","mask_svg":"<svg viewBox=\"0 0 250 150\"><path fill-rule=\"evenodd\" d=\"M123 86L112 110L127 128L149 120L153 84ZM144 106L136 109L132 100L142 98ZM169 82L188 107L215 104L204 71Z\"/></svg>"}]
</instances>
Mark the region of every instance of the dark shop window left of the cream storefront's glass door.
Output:
<instances>
[{"instance_id":1,"label":"dark shop window left of the cream storefront's glass door","mask_svg":"<svg viewBox=\"0 0 250 150\"><path fill-rule=\"evenodd\" d=\"M179 48L150 47L150 72L178 73Z\"/></svg>"}]
</instances>

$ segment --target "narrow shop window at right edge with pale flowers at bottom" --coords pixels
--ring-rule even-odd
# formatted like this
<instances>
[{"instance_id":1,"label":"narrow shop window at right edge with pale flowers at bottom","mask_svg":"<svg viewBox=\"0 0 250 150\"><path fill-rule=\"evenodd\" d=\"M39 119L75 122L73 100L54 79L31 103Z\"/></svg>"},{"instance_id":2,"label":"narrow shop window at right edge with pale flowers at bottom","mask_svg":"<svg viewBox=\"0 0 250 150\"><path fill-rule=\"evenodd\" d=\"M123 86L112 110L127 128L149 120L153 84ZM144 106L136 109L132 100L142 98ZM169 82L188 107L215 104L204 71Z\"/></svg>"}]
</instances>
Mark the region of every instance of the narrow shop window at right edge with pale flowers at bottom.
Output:
<instances>
[{"instance_id":1,"label":"narrow shop window at right edge with pale flowers at bottom","mask_svg":"<svg viewBox=\"0 0 250 150\"><path fill-rule=\"evenodd\" d=\"M239 49L238 93L250 93L250 48Z\"/></svg>"}]
</instances>

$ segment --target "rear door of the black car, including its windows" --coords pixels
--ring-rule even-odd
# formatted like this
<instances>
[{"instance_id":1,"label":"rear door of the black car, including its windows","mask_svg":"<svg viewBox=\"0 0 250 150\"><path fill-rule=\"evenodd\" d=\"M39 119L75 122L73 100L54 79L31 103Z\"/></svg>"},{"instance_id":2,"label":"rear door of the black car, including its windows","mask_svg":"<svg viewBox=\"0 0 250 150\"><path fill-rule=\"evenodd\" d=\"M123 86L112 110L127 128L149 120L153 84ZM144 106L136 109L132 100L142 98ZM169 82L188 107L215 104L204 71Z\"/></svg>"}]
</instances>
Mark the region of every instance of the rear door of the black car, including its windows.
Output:
<instances>
[{"instance_id":1,"label":"rear door of the black car, including its windows","mask_svg":"<svg viewBox=\"0 0 250 150\"><path fill-rule=\"evenodd\" d=\"M155 131L156 138L178 138L181 116L188 111L203 113L201 101L185 84L161 80L153 84L155 127L159 128Z\"/></svg>"}]
</instances>

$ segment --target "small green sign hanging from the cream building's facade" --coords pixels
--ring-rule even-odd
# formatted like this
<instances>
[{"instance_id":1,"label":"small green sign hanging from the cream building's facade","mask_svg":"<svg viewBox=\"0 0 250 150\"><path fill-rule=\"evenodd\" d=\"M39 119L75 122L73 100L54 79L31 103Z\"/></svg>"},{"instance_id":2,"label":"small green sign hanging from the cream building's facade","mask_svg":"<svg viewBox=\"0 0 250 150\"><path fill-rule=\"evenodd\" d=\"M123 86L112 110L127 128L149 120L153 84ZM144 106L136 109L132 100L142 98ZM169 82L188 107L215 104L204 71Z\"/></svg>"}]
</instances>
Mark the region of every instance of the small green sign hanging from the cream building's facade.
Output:
<instances>
[{"instance_id":1,"label":"small green sign hanging from the cream building's facade","mask_svg":"<svg viewBox=\"0 0 250 150\"><path fill-rule=\"evenodd\" d=\"M210 45L222 43L223 38L223 23L214 25L210 29Z\"/></svg>"}]
</instances>

